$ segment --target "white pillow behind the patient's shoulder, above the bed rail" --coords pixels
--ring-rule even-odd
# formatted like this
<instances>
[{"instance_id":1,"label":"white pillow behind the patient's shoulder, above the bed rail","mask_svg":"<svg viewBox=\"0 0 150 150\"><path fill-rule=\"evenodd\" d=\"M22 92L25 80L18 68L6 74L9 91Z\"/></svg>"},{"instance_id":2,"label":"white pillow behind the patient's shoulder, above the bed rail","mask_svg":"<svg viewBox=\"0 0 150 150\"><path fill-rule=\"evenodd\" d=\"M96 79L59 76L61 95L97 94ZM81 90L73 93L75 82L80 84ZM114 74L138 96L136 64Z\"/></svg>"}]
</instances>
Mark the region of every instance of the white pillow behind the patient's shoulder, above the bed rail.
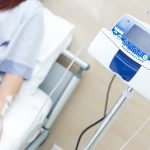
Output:
<instances>
[{"instance_id":1,"label":"white pillow behind the patient's shoulder, above the bed rail","mask_svg":"<svg viewBox=\"0 0 150 150\"><path fill-rule=\"evenodd\" d=\"M37 88L45 79L58 56L70 45L74 26L44 8L44 39L32 78L29 81Z\"/></svg>"}]
</instances>

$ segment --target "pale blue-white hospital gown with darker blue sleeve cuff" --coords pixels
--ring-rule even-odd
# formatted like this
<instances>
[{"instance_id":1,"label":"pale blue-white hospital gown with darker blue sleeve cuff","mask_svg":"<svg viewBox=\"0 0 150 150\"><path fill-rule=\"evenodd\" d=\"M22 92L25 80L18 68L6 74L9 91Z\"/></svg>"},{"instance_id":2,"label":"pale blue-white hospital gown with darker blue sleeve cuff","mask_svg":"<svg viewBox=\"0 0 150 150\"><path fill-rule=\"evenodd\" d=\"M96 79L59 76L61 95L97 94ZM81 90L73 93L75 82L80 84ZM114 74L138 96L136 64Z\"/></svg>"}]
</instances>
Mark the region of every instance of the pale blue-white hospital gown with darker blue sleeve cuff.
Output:
<instances>
[{"instance_id":1,"label":"pale blue-white hospital gown with darker blue sleeve cuff","mask_svg":"<svg viewBox=\"0 0 150 150\"><path fill-rule=\"evenodd\" d=\"M31 79L43 26L43 6L38 0L26 0L0 12L0 81L6 72Z\"/></svg>"}]
</instances>

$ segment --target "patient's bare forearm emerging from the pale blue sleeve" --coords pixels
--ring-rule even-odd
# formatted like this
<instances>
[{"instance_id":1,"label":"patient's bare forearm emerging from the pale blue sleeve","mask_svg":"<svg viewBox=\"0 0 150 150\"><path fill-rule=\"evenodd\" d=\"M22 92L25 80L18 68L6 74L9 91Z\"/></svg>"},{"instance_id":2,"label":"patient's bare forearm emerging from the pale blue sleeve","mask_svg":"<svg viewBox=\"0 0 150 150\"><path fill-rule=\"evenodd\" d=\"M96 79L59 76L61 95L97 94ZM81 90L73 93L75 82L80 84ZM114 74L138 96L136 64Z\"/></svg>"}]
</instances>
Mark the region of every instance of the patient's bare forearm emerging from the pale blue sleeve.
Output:
<instances>
[{"instance_id":1,"label":"patient's bare forearm emerging from the pale blue sleeve","mask_svg":"<svg viewBox=\"0 0 150 150\"><path fill-rule=\"evenodd\" d=\"M0 84L0 113L6 103L6 96L17 95L21 85L23 83L23 78L17 74L5 73L4 78Z\"/></svg>"}]
</instances>

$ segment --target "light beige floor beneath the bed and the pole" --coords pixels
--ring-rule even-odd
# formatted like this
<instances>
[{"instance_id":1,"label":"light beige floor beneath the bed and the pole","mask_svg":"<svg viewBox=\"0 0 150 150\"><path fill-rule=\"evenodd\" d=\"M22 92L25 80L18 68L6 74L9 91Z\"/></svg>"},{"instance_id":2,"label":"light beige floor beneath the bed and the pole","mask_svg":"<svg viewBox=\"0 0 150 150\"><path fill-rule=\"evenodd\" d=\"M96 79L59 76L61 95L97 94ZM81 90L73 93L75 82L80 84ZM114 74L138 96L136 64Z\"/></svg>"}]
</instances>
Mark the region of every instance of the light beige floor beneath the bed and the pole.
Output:
<instances>
[{"instance_id":1,"label":"light beige floor beneath the bed and the pole","mask_svg":"<svg viewBox=\"0 0 150 150\"><path fill-rule=\"evenodd\" d=\"M101 27L110 29L123 14L131 14L150 23L150 16L146 14L150 8L149 0L45 0L44 4L52 12L75 24L76 35L71 46L73 53L91 41ZM81 54L81 58L91 64L91 69L83 75L79 86L56 120L49 138L39 150L50 150L53 144L58 144L64 150L74 150L81 131L102 117L106 89L112 74L91 58L86 50ZM110 93L109 108L125 87L119 78L115 79ZM149 115L150 102L135 92L105 133L96 150L119 150ZM83 137L80 150L95 129ZM149 141L150 122L125 150L149 150Z\"/></svg>"}]
</instances>

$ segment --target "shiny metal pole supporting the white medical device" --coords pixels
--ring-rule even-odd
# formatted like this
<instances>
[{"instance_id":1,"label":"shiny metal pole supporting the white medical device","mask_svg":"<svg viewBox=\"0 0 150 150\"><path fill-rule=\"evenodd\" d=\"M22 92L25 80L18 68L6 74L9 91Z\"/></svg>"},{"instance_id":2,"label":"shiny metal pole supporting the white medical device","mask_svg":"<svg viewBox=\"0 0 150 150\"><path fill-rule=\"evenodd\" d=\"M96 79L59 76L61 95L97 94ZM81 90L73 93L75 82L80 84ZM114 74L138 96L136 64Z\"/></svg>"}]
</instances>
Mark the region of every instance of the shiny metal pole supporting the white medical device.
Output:
<instances>
[{"instance_id":1,"label":"shiny metal pole supporting the white medical device","mask_svg":"<svg viewBox=\"0 0 150 150\"><path fill-rule=\"evenodd\" d=\"M131 96L133 89L131 87L128 87L124 92L122 92L121 97L118 99L118 101L115 103L113 108L110 110L110 112L107 114L106 118L101 123L100 127L97 129L96 133L92 137L92 139L89 141L89 143L85 146L84 150L94 150L96 147L96 144L99 142L100 138L103 135L103 132L107 129L108 125L112 121L112 119L117 114L118 110L121 108L121 106L128 100L128 98Z\"/></svg>"}]
</instances>

